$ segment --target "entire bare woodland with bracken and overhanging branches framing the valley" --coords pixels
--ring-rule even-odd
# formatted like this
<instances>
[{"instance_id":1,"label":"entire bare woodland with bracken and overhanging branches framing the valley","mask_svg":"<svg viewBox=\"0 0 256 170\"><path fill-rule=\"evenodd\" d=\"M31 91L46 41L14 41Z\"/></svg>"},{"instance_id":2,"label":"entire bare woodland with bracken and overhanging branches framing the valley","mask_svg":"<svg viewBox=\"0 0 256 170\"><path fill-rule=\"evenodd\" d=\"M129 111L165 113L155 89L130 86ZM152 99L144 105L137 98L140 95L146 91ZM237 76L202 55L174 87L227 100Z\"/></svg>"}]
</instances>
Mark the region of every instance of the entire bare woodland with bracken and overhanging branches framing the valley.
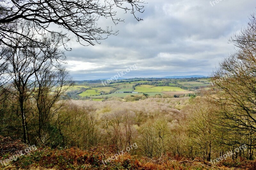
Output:
<instances>
[{"instance_id":1,"label":"entire bare woodland with bracken and overhanging branches framing the valley","mask_svg":"<svg viewBox=\"0 0 256 170\"><path fill-rule=\"evenodd\" d=\"M102 102L69 99L66 91L74 82L63 67L66 56L61 50L63 46L70 50L68 34L48 27L62 26L77 41L94 44L103 35L115 34L94 25L98 17L122 21L115 19L114 6L134 14L142 12L143 2L115 0L105 6L91 1L0 2L1 158L28 145L38 148L12 161L9 168L202 169L202 164L213 169L256 168L254 14L241 33L231 37L236 52L213 71L211 88L182 98L144 95L136 102L128 98ZM137 149L108 166L102 163L133 144ZM230 151L236 154L211 164ZM202 164L182 162L195 159Z\"/></svg>"}]
</instances>

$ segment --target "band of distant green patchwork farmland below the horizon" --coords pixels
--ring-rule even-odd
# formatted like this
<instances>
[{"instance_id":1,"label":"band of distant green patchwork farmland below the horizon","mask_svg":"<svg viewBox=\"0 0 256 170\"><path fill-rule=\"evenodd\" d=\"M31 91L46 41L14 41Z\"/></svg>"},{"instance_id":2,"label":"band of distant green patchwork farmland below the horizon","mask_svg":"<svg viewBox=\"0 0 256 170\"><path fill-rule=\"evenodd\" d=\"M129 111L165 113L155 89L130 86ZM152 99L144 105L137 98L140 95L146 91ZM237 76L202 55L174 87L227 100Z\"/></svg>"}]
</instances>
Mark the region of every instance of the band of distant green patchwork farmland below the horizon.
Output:
<instances>
[{"instance_id":1,"label":"band of distant green patchwork farmland below the horizon","mask_svg":"<svg viewBox=\"0 0 256 170\"><path fill-rule=\"evenodd\" d=\"M146 79L146 80L145 80ZM122 82L113 82L107 85L102 85L101 81L93 82L76 82L68 89L68 96L74 99L101 101L104 98L118 97L124 98L127 95L145 95L154 97L156 94L161 96L179 97L187 96L188 94L196 93L201 88L209 88L209 79L154 79L144 78L141 80L122 80ZM198 89L198 90L197 90ZM124 93L138 92L138 93ZM99 99L99 100L96 100Z\"/></svg>"}]
</instances>

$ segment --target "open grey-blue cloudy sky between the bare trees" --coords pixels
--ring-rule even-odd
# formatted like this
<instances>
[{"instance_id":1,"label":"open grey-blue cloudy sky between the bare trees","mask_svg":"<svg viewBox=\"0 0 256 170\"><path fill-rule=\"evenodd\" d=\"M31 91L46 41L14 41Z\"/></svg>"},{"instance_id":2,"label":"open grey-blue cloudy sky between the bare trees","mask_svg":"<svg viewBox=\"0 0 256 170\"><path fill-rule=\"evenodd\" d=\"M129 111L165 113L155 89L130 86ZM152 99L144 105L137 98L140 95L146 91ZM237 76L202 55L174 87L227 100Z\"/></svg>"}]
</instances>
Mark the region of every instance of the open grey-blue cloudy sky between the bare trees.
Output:
<instances>
[{"instance_id":1,"label":"open grey-blue cloudy sky between the bare trees","mask_svg":"<svg viewBox=\"0 0 256 170\"><path fill-rule=\"evenodd\" d=\"M123 78L208 76L234 51L228 39L256 10L255 0L222 0L215 5L209 0L145 2L145 12L138 14L143 21L119 12L125 22L112 28L119 30L117 36L95 46L71 44L67 68L74 80L110 78L134 64L137 69ZM111 26L104 20L99 24Z\"/></svg>"}]
</instances>

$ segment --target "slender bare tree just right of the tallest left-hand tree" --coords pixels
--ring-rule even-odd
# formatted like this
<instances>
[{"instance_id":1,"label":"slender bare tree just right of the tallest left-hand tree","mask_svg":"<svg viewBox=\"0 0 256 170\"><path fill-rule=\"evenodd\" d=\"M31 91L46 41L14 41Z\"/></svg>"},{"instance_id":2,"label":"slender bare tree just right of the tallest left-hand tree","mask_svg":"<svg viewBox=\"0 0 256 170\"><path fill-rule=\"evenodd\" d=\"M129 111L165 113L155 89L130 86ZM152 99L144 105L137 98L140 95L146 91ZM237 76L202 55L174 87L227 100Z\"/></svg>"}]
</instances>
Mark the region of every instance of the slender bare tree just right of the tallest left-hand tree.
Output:
<instances>
[{"instance_id":1,"label":"slender bare tree just right of the tallest left-hand tree","mask_svg":"<svg viewBox=\"0 0 256 170\"><path fill-rule=\"evenodd\" d=\"M56 68L50 62L44 63L42 68L35 72L35 78L36 89L32 93L35 103L32 107L35 105L36 109L32 109L32 113L38 120L35 128L38 129L38 137L42 142L42 132L50 133L52 119L63 106L62 103L56 104L72 85L72 81L64 68Z\"/></svg>"}]
</instances>

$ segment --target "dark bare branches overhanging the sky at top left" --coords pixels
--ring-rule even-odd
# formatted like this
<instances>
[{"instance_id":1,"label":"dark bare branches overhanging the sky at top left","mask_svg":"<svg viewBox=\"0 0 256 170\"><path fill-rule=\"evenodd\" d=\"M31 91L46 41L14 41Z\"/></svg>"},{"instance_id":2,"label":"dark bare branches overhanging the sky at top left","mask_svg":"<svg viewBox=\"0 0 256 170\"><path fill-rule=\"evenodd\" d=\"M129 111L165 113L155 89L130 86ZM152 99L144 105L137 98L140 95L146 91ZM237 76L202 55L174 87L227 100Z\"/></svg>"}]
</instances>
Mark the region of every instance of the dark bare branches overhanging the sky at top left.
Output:
<instances>
[{"instance_id":1,"label":"dark bare branches overhanging the sky at top left","mask_svg":"<svg viewBox=\"0 0 256 170\"><path fill-rule=\"evenodd\" d=\"M123 21L117 18L115 8L121 8L125 12L143 12L144 2L141 0L0 0L0 42L6 45L12 39L12 34L20 34L21 37L31 41L42 43L27 34L13 29L12 24L22 23L24 20L32 22L37 33L58 33L63 41L69 40L67 31L76 36L78 42L85 41L94 45L93 41L107 38L110 34L116 34L107 26L106 29L97 25L100 18L110 18L114 24ZM56 25L66 31L51 30L50 26ZM102 37L103 34L107 36Z\"/></svg>"}]
</instances>

